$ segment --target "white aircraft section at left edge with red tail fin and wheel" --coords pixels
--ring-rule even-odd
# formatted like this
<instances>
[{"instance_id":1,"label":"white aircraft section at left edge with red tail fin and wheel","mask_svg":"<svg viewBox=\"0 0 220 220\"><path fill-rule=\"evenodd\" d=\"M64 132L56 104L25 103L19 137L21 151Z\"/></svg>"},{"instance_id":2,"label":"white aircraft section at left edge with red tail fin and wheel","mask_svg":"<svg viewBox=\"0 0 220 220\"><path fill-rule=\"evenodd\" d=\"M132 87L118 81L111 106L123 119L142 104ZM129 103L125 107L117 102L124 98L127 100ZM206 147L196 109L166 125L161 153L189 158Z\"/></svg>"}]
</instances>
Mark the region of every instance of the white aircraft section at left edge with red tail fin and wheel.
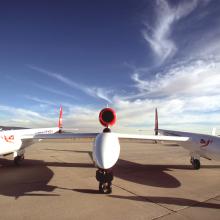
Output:
<instances>
[{"instance_id":1,"label":"white aircraft section at left edge with red tail fin and wheel","mask_svg":"<svg viewBox=\"0 0 220 220\"><path fill-rule=\"evenodd\" d=\"M19 165L24 160L25 148L34 143L37 134L54 134L62 129L62 107L60 107L60 115L58 127L52 128L35 128L35 129L16 129L0 131L0 155L6 156L13 154L14 163Z\"/></svg>"}]
</instances>

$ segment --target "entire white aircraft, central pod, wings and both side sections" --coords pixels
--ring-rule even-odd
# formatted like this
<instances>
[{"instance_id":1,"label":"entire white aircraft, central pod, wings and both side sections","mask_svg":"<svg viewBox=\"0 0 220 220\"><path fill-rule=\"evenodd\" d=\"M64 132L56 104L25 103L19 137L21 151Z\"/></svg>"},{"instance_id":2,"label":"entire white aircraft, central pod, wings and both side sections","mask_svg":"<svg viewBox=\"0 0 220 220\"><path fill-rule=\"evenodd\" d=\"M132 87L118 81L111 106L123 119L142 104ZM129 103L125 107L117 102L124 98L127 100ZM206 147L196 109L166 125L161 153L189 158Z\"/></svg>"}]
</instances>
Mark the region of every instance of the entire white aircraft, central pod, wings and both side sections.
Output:
<instances>
[{"instance_id":1,"label":"entire white aircraft, central pod, wings and both side sections","mask_svg":"<svg viewBox=\"0 0 220 220\"><path fill-rule=\"evenodd\" d=\"M59 125L56 128L25 129L0 131L1 148L0 155L14 154L15 163L23 159L24 148L31 145L34 140L39 139L65 139L94 137L93 160L98 170L96 179L99 182L101 193L112 192L113 172L112 168L117 163L120 155L119 139L142 139L152 141L168 141L177 143L190 151L192 163L199 168L200 157L208 159L220 159L220 137L193 134L187 132L172 132L158 129L158 117L156 116L155 132L162 131L166 135L135 135L111 132L110 127L116 122L116 113L112 108L104 108L99 113L99 121L105 127L101 133L72 133L58 134L62 126L62 109L59 118ZM169 133L171 132L171 133ZM56 133L56 134L55 134ZM170 136L167 136L169 134ZM17 158L17 159L16 159Z\"/></svg>"}]
</instances>

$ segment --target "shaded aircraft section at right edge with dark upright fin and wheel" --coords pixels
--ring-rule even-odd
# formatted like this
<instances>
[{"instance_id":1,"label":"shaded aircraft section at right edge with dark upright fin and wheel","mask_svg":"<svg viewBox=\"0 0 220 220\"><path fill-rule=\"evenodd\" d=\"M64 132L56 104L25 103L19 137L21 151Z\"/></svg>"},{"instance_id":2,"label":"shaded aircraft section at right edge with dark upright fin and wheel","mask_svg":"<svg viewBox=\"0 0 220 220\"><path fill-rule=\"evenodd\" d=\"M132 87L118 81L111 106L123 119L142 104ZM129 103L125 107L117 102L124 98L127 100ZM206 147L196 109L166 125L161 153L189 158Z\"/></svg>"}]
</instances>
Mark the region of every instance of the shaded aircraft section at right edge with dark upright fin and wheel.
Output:
<instances>
[{"instance_id":1,"label":"shaded aircraft section at right edge with dark upright fin and wheel","mask_svg":"<svg viewBox=\"0 0 220 220\"><path fill-rule=\"evenodd\" d=\"M159 129L158 112L155 109L155 135L158 134L188 137L187 141L179 142L179 145L190 152L190 162L194 169L200 168L200 157L208 160L220 160L220 137L215 136L215 129L213 129L212 135Z\"/></svg>"}]
</instances>

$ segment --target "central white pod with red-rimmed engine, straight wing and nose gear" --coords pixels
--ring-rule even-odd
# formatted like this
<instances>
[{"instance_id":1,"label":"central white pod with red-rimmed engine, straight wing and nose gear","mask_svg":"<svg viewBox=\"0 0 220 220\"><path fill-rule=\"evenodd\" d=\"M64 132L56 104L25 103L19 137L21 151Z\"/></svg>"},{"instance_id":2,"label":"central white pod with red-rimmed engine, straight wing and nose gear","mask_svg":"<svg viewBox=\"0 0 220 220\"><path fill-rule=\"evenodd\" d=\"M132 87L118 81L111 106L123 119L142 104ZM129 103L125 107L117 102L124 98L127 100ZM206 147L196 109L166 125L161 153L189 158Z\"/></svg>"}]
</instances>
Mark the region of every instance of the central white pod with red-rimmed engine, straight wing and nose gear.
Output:
<instances>
[{"instance_id":1,"label":"central white pod with red-rimmed engine, straight wing and nose gear","mask_svg":"<svg viewBox=\"0 0 220 220\"><path fill-rule=\"evenodd\" d=\"M112 108L104 108L99 113L99 121L105 127L101 133L73 133L73 134L52 134L36 135L36 139L63 139L63 138L85 138L94 137L93 160L98 170L96 179L99 182L99 191L101 193L112 192L113 172L112 168L116 164L120 155L119 139L143 139L152 141L172 141L175 143L185 143L190 137L178 136L156 136L156 135L132 135L113 133L110 127L116 122L116 113Z\"/></svg>"}]
</instances>

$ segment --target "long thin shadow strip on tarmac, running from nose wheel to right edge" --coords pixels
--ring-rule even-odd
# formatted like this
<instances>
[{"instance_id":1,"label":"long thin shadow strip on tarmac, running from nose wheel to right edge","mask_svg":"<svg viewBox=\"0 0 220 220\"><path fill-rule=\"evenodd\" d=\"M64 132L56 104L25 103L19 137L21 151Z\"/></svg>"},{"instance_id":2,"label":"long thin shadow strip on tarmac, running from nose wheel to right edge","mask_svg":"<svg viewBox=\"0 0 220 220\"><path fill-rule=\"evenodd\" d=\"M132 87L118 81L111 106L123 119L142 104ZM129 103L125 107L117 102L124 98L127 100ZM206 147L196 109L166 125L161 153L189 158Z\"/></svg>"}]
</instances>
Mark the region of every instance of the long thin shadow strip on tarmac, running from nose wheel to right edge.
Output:
<instances>
[{"instance_id":1,"label":"long thin shadow strip on tarmac, running from nose wheel to right edge","mask_svg":"<svg viewBox=\"0 0 220 220\"><path fill-rule=\"evenodd\" d=\"M109 195L115 199L128 199L140 202L151 202L156 204L178 205L178 206L193 206L202 208L220 209L220 204L213 202L199 202L193 199L177 198L177 197L162 197L162 196L117 196Z\"/></svg>"}]
</instances>

